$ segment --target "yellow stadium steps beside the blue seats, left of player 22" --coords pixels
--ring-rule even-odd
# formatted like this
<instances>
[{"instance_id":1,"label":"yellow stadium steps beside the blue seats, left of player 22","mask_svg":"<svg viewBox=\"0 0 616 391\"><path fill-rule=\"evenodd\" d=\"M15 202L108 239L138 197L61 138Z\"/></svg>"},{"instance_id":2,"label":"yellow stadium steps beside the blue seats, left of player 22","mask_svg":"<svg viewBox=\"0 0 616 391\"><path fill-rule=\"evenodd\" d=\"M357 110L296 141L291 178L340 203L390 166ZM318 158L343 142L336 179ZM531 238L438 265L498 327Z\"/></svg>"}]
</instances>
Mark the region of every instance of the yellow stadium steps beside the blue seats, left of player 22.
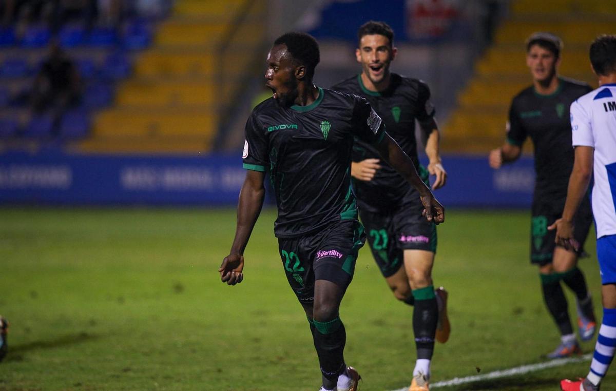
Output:
<instances>
[{"instance_id":1,"label":"yellow stadium steps beside the blue seats, left of player 22","mask_svg":"<svg viewBox=\"0 0 616 391\"><path fill-rule=\"evenodd\" d=\"M135 59L132 78L118 86L115 105L95 116L92 137L72 147L87 153L211 150L221 113L264 39L264 6L262 0L177 1L153 46ZM229 40L230 31L241 39ZM230 50L222 47L227 41Z\"/></svg>"}]
</instances>

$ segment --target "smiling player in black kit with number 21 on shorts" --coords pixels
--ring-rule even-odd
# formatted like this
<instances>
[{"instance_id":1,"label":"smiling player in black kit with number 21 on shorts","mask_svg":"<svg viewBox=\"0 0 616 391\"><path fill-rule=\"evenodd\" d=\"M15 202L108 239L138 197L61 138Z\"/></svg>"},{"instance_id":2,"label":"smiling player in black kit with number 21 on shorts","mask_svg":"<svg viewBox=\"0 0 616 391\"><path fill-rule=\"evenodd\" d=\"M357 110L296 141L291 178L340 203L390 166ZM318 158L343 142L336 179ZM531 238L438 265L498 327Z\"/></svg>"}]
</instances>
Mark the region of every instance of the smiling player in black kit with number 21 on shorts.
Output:
<instances>
[{"instance_id":1,"label":"smiling player in black kit with number 21 on shorts","mask_svg":"<svg viewBox=\"0 0 616 391\"><path fill-rule=\"evenodd\" d=\"M410 156L424 182L428 182L430 172L436 175L432 188L442 187L447 174L440 164L439 131L428 86L389 71L397 49L394 32L387 23L367 22L357 35L359 48L355 54L362 73L332 89L367 99L383 118L387 134ZM429 172L419 164L415 120L427 140ZM373 145L356 138L352 159L351 174L360 217L376 263L394 296L415 305L413 331L417 360L410 390L428 390L435 333L440 342L447 341L450 333L445 312L447 292L439 288L435 294L431 276L436 227L421 218L423 206L415 188L389 164L379 161L379 152ZM441 316L437 331L439 304Z\"/></svg>"}]
</instances>

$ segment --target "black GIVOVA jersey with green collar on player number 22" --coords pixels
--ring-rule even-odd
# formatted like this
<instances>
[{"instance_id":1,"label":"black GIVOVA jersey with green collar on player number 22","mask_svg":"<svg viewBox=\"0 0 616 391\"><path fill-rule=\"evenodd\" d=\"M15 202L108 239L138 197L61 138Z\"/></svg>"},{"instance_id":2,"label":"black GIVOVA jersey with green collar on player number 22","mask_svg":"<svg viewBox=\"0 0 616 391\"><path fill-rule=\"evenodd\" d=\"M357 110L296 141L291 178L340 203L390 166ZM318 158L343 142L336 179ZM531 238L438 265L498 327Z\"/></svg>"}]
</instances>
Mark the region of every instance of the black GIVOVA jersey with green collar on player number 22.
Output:
<instances>
[{"instance_id":1,"label":"black GIVOVA jersey with green collar on player number 22","mask_svg":"<svg viewBox=\"0 0 616 391\"><path fill-rule=\"evenodd\" d=\"M278 206L278 238L357 219L351 191L353 139L371 144L385 135L381 118L367 100L318 91L317 100L308 106L283 107L267 99L246 122L244 167L269 171Z\"/></svg>"}]
</instances>

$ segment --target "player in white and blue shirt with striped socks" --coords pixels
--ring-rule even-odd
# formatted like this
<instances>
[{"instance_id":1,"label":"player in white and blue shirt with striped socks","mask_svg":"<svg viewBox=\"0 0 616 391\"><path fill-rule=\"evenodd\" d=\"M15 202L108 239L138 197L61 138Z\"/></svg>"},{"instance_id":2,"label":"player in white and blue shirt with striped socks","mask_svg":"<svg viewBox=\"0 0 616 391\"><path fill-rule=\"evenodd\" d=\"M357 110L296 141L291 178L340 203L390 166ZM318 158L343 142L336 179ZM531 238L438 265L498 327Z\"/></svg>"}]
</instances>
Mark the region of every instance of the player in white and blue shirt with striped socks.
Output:
<instances>
[{"instance_id":1,"label":"player in white and blue shirt with striped socks","mask_svg":"<svg viewBox=\"0 0 616 391\"><path fill-rule=\"evenodd\" d=\"M571 105L575 163L567 201L556 228L556 242L577 248L572 220L594 177L593 214L597 227L597 257L601 270L603 321L590 372L579 381L561 381L565 391L598 390L616 349L616 35L603 35L590 47L590 62L599 88Z\"/></svg>"}]
</instances>

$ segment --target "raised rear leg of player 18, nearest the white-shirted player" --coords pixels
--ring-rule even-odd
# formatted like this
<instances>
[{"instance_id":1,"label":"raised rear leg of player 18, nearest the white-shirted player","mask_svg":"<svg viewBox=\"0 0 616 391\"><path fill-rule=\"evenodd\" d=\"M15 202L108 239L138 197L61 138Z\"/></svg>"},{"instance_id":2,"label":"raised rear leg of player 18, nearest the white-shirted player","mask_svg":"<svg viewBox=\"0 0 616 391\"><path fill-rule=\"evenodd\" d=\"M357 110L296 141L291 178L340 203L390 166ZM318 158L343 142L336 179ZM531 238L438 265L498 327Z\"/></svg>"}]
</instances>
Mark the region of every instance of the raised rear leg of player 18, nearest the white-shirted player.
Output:
<instances>
[{"instance_id":1,"label":"raised rear leg of player 18, nearest the white-shirted player","mask_svg":"<svg viewBox=\"0 0 616 391\"><path fill-rule=\"evenodd\" d=\"M582 341L590 341L596 330L593 300L590 297L586 278L577 267L578 255L573 251L557 246L554 249L554 272L561 275L564 282L575 294L578 312L578 331Z\"/></svg>"}]
</instances>

